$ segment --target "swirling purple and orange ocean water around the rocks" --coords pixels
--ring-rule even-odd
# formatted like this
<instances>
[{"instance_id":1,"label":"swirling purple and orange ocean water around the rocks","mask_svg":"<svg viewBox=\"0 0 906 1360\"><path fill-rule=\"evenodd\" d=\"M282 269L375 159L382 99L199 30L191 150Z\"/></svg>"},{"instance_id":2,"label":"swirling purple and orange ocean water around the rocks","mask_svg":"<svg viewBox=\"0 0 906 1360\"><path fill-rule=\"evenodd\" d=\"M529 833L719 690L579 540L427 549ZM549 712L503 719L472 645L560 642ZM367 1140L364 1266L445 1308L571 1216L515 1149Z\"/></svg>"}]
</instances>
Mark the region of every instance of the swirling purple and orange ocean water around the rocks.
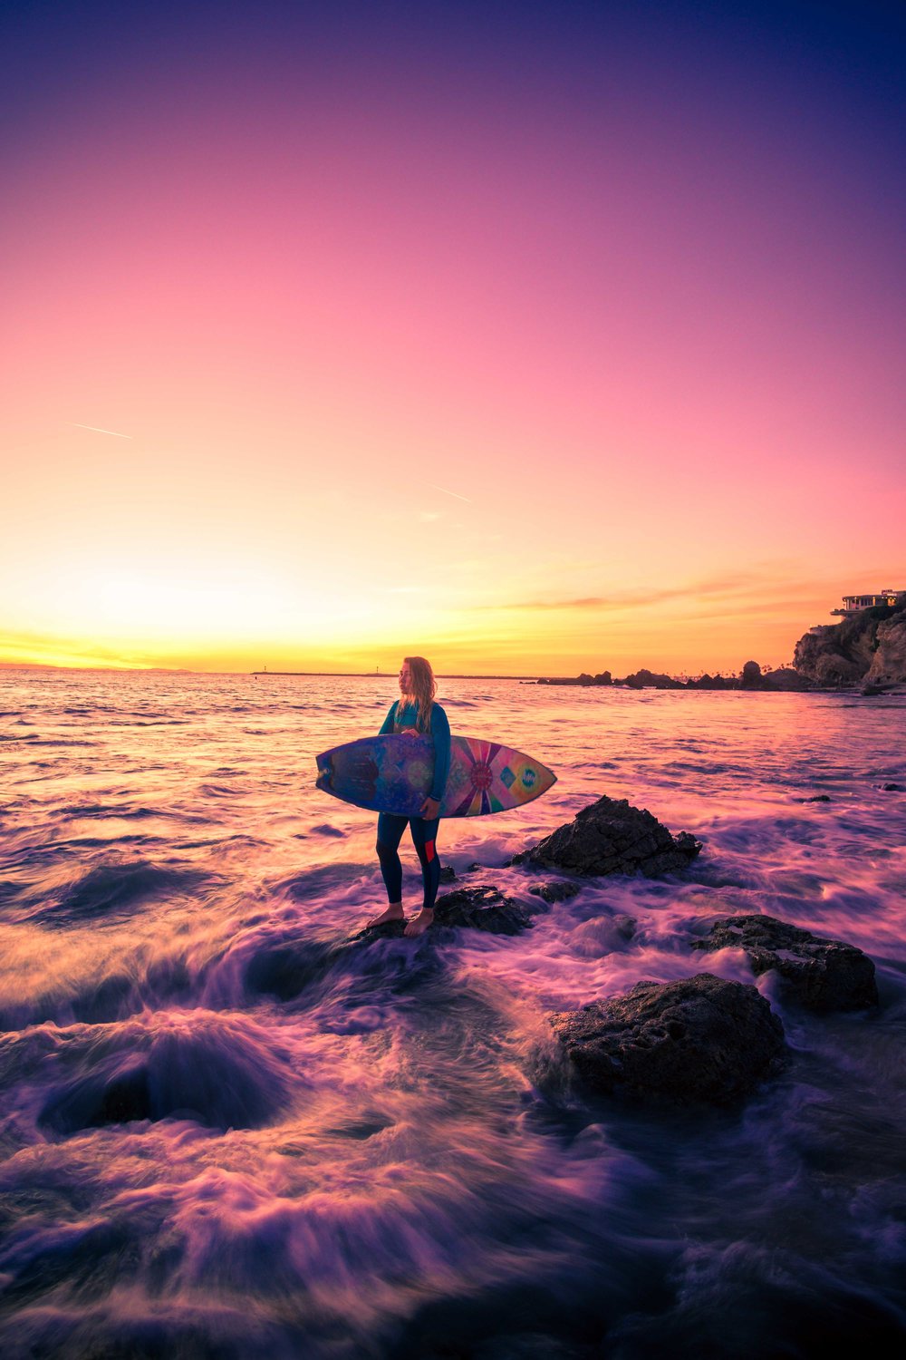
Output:
<instances>
[{"instance_id":1,"label":"swirling purple and orange ocean water around the rocks","mask_svg":"<svg viewBox=\"0 0 906 1360\"><path fill-rule=\"evenodd\" d=\"M534 926L353 940L375 819L314 758L394 696L0 670L0 1353L902 1353L906 699L441 681L454 732L558 775L439 836L452 887ZM546 906L507 861L603 793L702 854ZM877 1010L808 1015L766 974L792 1059L744 1107L584 1091L547 1015L753 981L690 948L753 911L864 949Z\"/></svg>"}]
</instances>

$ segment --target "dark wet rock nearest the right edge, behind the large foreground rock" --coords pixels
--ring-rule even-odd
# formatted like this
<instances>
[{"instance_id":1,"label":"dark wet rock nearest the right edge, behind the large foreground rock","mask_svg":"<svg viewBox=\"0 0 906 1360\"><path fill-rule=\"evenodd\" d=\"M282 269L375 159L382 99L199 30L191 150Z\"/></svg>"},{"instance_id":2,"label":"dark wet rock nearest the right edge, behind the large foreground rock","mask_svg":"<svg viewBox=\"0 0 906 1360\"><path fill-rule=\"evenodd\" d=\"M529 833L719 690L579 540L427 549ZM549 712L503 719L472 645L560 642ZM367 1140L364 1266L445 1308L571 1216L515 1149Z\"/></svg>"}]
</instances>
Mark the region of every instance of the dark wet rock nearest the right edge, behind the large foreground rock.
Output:
<instances>
[{"instance_id":1,"label":"dark wet rock nearest the right edge, behind the large foreground rock","mask_svg":"<svg viewBox=\"0 0 906 1360\"><path fill-rule=\"evenodd\" d=\"M776 968L810 1010L877 1005L875 964L852 944L825 940L774 917L723 917L693 949L744 949L755 976Z\"/></svg>"}]
</instances>

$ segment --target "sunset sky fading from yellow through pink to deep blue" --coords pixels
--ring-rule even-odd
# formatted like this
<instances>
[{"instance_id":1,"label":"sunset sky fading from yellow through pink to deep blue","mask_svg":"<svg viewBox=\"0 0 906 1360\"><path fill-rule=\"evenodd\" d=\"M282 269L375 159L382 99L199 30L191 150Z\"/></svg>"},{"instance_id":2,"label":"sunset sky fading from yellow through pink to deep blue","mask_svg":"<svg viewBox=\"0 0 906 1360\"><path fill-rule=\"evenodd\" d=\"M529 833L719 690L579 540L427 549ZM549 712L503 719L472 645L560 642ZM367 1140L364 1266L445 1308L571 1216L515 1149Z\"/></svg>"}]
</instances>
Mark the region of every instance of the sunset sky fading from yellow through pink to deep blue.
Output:
<instances>
[{"instance_id":1,"label":"sunset sky fading from yellow through pink to deep blue","mask_svg":"<svg viewBox=\"0 0 906 1360\"><path fill-rule=\"evenodd\" d=\"M906 589L902 4L0 53L0 664L731 672Z\"/></svg>"}]
</instances>

